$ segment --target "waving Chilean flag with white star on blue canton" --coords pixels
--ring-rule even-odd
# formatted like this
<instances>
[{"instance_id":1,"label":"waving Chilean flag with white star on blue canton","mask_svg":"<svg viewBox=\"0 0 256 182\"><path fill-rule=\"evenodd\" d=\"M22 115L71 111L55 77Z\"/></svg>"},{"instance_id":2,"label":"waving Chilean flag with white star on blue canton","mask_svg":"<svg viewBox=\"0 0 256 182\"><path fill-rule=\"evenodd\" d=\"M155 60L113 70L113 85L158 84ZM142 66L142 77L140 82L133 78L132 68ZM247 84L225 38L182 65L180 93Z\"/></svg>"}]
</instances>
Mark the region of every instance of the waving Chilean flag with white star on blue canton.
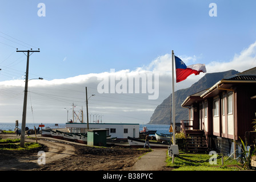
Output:
<instances>
[{"instance_id":1,"label":"waving Chilean flag with white star on blue canton","mask_svg":"<svg viewBox=\"0 0 256 182\"><path fill-rule=\"evenodd\" d=\"M185 80L188 76L199 75L200 72L206 73L205 64L192 64L186 66L179 57L175 56L176 82Z\"/></svg>"}]
</instances>

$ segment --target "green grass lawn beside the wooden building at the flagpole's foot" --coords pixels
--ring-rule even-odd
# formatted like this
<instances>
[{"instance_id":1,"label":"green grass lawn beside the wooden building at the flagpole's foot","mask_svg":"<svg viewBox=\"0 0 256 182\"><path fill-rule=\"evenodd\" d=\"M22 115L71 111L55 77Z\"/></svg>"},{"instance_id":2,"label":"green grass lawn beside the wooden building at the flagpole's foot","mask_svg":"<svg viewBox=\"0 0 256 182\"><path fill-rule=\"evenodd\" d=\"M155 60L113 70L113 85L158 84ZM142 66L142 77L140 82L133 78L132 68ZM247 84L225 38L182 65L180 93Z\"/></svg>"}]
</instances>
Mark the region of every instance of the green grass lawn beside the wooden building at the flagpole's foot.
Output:
<instances>
[{"instance_id":1,"label":"green grass lawn beside the wooden building at the flagpole's foot","mask_svg":"<svg viewBox=\"0 0 256 182\"><path fill-rule=\"evenodd\" d=\"M209 154L192 154L179 152L179 156L182 158L190 160L207 160L213 158L213 155ZM218 156L218 155L217 155ZM227 159L224 156L224 164L222 166L222 159L217 159L217 164L210 162L195 163L189 162L183 159L175 158L174 163L172 163L172 158L167 156L167 167L175 168L174 171L239 171L238 162L236 160ZM227 159L227 160L226 160Z\"/></svg>"}]
</instances>

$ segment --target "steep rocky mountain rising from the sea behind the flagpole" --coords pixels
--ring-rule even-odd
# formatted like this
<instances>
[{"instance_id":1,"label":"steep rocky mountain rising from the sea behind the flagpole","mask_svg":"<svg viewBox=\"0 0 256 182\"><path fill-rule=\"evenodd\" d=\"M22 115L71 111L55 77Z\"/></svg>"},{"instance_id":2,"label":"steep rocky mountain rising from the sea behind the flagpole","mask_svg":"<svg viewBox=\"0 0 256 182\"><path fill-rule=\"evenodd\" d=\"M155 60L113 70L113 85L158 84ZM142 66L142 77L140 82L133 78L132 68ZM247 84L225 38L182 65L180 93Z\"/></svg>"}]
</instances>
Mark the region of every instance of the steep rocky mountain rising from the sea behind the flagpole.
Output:
<instances>
[{"instance_id":1,"label":"steep rocky mountain rising from the sea behind the flagpole","mask_svg":"<svg viewBox=\"0 0 256 182\"><path fill-rule=\"evenodd\" d=\"M191 94L200 92L207 88L213 86L219 80L222 80L225 77L235 75L239 72L230 70L226 72L218 73L207 73L200 80L195 82L190 88L177 90L175 92L176 103L175 103L175 121L181 121L182 119L189 118L189 111L186 108L181 107L182 102L186 99L187 96ZM171 94L172 95L172 94ZM153 115L150 118L148 124L155 125L170 125L171 121L171 95L167 97L162 104L158 105L155 109Z\"/></svg>"}]
</instances>

